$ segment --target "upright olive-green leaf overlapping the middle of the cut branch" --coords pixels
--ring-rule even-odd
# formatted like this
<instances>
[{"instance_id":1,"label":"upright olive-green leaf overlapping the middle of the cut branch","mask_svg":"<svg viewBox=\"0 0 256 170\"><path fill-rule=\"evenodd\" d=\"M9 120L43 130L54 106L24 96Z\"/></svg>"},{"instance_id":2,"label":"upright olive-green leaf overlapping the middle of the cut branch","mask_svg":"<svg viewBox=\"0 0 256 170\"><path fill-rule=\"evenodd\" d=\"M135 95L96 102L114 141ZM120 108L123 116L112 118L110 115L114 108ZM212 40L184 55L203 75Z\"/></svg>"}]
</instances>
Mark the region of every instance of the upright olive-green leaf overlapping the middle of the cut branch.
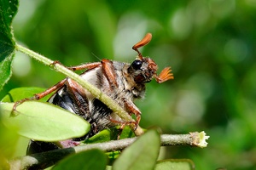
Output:
<instances>
[{"instance_id":1,"label":"upright olive-green leaf overlapping the middle of the cut branch","mask_svg":"<svg viewBox=\"0 0 256 170\"><path fill-rule=\"evenodd\" d=\"M150 130L137 139L124 150L113 163L115 169L154 169L160 151L160 135L155 130Z\"/></svg>"}]
</instances>

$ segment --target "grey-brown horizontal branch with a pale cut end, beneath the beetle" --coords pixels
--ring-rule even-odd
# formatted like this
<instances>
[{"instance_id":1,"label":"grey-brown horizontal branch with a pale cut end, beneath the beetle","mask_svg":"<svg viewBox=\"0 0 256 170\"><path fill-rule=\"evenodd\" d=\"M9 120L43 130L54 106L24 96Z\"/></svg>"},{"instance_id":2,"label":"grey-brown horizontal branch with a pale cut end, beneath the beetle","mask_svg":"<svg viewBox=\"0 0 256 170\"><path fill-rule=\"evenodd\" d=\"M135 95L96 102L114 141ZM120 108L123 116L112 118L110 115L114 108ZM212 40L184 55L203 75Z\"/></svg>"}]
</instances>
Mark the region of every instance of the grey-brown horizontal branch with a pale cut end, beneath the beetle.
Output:
<instances>
[{"instance_id":1,"label":"grey-brown horizontal branch with a pale cut end, beneath the beetle","mask_svg":"<svg viewBox=\"0 0 256 170\"><path fill-rule=\"evenodd\" d=\"M160 135L161 145L190 145L197 147L207 147L206 133L194 132L189 134L162 134ZM42 152L33 154L31 156L23 156L15 160L9 161L10 169L41 169L54 165L57 161L60 161L65 156L79 153L85 150L100 149L103 151L123 150L132 144L137 137L131 139L112 140L104 143L97 144L84 144L75 146L73 148L65 148L60 150L51 150L48 152Z\"/></svg>"}]
</instances>

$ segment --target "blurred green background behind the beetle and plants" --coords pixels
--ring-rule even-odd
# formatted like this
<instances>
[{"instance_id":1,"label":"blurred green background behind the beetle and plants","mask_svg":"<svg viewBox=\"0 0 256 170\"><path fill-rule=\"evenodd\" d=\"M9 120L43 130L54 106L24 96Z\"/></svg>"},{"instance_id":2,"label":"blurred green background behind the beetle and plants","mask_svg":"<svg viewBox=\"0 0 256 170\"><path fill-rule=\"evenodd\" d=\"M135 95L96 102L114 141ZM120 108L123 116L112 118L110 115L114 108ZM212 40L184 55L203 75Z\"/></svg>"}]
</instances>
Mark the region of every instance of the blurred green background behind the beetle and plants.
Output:
<instances>
[{"instance_id":1,"label":"blurred green background behind the beetle and plants","mask_svg":"<svg viewBox=\"0 0 256 170\"><path fill-rule=\"evenodd\" d=\"M189 158L196 169L256 169L256 1L21 0L15 38L64 65L113 59L132 62L143 49L175 76L150 82L137 101L142 127L163 133L205 131L206 149L165 147L161 158ZM63 76L16 54L12 88L49 88ZM21 146L20 146L21 147Z\"/></svg>"}]
</instances>

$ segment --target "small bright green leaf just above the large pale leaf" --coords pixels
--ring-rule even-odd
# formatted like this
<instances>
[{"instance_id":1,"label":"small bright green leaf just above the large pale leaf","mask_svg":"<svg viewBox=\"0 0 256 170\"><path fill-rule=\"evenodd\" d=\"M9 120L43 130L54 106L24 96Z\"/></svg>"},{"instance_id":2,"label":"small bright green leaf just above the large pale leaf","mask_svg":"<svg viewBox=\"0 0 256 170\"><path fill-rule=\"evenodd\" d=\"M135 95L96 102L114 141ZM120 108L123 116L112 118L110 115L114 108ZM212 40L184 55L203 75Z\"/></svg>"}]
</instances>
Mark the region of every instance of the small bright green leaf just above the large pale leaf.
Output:
<instances>
[{"instance_id":1,"label":"small bright green leaf just above the large pale leaf","mask_svg":"<svg viewBox=\"0 0 256 170\"><path fill-rule=\"evenodd\" d=\"M31 98L34 94L39 94L44 92L45 88L37 88L37 87L22 87L22 88L13 88L6 94L2 102L16 102L20 99ZM48 97L44 97L40 99L40 101L46 101L49 99Z\"/></svg>"}]
</instances>

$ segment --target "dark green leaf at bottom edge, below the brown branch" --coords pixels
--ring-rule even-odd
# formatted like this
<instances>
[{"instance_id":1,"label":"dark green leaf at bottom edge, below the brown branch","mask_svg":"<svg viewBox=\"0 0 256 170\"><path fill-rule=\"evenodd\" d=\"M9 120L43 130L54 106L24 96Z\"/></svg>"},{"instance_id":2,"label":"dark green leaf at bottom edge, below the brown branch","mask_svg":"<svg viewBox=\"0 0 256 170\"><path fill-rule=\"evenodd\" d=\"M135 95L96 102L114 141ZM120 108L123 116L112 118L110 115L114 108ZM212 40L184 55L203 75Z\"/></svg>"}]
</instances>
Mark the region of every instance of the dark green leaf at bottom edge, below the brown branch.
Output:
<instances>
[{"instance_id":1,"label":"dark green leaf at bottom edge, below the brown branch","mask_svg":"<svg viewBox=\"0 0 256 170\"><path fill-rule=\"evenodd\" d=\"M105 170L107 156L102 150L87 150L73 156L68 156L53 167L53 170Z\"/></svg>"}]
</instances>

